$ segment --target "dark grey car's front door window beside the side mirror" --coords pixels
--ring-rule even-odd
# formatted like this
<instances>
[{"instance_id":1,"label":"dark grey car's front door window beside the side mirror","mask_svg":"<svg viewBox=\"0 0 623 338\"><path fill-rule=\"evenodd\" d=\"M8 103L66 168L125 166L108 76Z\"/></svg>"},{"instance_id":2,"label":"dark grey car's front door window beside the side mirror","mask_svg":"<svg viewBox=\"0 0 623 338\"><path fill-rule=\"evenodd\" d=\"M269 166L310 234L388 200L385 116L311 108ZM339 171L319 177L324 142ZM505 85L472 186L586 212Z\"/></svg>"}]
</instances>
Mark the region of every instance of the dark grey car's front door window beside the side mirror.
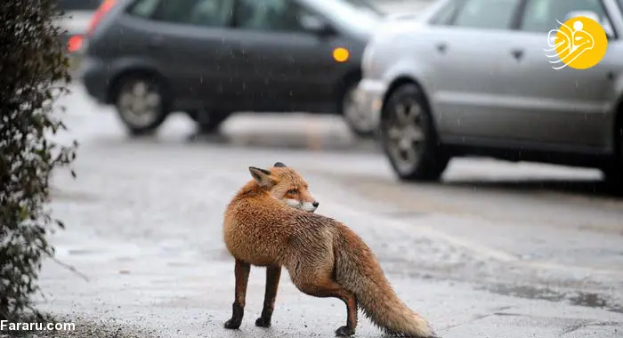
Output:
<instances>
[{"instance_id":1,"label":"dark grey car's front door window beside the side mirror","mask_svg":"<svg viewBox=\"0 0 623 338\"><path fill-rule=\"evenodd\" d=\"M239 0L238 28L268 31L303 31L303 8L292 0Z\"/></svg>"}]
</instances>

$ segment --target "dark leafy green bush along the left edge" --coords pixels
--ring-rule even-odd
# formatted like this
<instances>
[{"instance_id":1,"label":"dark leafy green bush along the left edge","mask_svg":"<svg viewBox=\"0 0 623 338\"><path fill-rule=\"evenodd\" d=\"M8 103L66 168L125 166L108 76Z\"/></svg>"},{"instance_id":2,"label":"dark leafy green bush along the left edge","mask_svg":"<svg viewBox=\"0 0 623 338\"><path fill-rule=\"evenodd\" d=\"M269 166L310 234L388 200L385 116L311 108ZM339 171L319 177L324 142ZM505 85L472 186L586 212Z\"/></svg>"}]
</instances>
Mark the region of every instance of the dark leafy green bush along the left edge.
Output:
<instances>
[{"instance_id":1,"label":"dark leafy green bush along the left edge","mask_svg":"<svg viewBox=\"0 0 623 338\"><path fill-rule=\"evenodd\" d=\"M76 157L76 143L52 140L70 80L56 1L0 1L0 319L11 321L34 310L47 236L62 227L47 205L51 175Z\"/></svg>"}]
</instances>

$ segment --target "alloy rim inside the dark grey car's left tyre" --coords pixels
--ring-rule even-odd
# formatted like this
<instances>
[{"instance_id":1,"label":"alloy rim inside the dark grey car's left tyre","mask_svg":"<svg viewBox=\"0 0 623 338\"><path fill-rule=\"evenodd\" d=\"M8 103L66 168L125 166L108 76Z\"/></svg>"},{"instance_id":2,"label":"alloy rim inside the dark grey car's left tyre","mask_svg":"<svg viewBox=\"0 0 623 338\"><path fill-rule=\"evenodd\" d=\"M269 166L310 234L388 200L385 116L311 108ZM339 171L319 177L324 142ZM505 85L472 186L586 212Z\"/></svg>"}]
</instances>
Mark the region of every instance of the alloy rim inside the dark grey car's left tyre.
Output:
<instances>
[{"instance_id":1,"label":"alloy rim inside the dark grey car's left tyre","mask_svg":"<svg viewBox=\"0 0 623 338\"><path fill-rule=\"evenodd\" d=\"M162 98L154 86L137 81L122 91L118 107L125 120L134 127L147 127L158 119Z\"/></svg>"}]
</instances>

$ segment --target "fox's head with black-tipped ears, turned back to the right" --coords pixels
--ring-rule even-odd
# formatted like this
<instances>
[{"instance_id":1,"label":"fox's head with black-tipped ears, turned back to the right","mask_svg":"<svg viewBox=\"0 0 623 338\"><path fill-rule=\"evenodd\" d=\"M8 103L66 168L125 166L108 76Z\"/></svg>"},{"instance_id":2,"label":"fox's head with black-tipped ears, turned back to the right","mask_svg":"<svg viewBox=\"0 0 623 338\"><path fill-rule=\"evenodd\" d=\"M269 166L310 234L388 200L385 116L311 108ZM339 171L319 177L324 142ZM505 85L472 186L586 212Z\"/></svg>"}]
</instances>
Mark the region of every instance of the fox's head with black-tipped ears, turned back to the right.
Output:
<instances>
[{"instance_id":1,"label":"fox's head with black-tipped ears, turned back to the right","mask_svg":"<svg viewBox=\"0 0 623 338\"><path fill-rule=\"evenodd\" d=\"M309 185L299 173L277 162L270 170L249 166L255 182L281 203L313 213L320 203L312 197Z\"/></svg>"}]
</instances>

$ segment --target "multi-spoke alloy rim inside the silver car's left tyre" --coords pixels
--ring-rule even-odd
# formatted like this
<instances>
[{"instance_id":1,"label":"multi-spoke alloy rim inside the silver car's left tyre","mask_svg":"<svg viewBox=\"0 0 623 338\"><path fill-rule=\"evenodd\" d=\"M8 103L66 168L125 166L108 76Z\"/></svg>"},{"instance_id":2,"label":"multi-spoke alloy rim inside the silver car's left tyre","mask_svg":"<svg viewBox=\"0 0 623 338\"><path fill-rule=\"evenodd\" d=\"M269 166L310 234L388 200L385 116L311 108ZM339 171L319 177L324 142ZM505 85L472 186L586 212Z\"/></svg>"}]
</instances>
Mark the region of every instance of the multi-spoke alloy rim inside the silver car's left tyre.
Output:
<instances>
[{"instance_id":1,"label":"multi-spoke alloy rim inside the silver car's left tyre","mask_svg":"<svg viewBox=\"0 0 623 338\"><path fill-rule=\"evenodd\" d=\"M396 104L387 120L387 150L401 173L413 171L420 160L425 142L423 120L422 106L412 99Z\"/></svg>"}]
</instances>

